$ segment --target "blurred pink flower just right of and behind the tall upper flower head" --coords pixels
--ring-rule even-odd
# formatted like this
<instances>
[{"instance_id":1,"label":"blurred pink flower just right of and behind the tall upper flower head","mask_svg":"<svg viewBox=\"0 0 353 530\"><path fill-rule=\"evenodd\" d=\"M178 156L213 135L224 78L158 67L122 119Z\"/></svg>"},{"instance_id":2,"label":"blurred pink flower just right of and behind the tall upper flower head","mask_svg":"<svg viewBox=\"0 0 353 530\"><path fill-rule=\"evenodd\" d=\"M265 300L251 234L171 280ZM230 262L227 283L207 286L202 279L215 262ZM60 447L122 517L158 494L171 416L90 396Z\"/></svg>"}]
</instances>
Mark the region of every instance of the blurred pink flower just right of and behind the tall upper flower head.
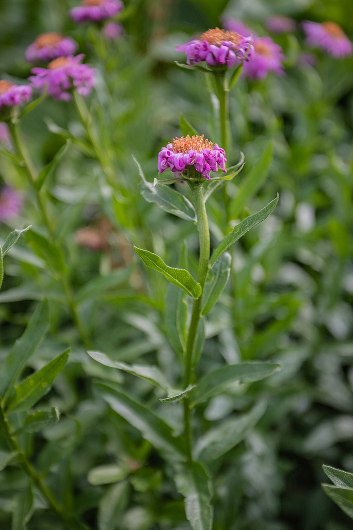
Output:
<instances>
[{"instance_id":1,"label":"blurred pink flower just right of and behind the tall upper flower head","mask_svg":"<svg viewBox=\"0 0 353 530\"><path fill-rule=\"evenodd\" d=\"M270 37L255 37L253 40L254 54L248 63L244 63L242 76L263 80L269 72L284 75L285 59L282 48Z\"/></svg>"}]
</instances>

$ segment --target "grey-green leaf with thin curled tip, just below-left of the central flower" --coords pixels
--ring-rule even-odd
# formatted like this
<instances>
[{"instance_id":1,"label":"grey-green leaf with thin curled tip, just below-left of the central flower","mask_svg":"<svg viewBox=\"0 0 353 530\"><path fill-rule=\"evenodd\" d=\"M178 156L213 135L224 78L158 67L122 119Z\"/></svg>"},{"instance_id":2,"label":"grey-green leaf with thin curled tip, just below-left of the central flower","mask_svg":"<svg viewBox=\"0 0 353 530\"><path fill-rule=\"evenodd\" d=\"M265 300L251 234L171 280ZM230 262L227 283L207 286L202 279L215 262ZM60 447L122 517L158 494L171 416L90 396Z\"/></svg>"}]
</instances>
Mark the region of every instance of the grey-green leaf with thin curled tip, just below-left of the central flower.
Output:
<instances>
[{"instance_id":1,"label":"grey-green leaf with thin curled tip, just below-left of the central flower","mask_svg":"<svg viewBox=\"0 0 353 530\"><path fill-rule=\"evenodd\" d=\"M142 197L146 199L147 202L155 202L159 208L167 211L169 214L196 223L196 213L191 202L178 191L171 190L167 186L160 187L148 182L142 172L140 164L134 156L133 160L139 169L139 174L142 179L139 183Z\"/></svg>"}]
</instances>

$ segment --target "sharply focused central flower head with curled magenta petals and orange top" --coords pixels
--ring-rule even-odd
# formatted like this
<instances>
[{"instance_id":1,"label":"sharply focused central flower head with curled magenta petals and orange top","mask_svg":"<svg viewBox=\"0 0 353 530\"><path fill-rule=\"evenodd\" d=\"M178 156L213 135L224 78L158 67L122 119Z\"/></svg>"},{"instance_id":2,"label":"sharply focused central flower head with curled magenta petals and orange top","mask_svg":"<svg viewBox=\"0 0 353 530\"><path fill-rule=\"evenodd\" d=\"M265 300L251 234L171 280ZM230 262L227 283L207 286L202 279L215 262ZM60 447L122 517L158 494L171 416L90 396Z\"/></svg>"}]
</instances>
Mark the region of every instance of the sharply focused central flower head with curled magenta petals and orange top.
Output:
<instances>
[{"instance_id":1,"label":"sharply focused central flower head with curled magenta petals and orange top","mask_svg":"<svg viewBox=\"0 0 353 530\"><path fill-rule=\"evenodd\" d=\"M158 154L158 171L166 169L173 171L176 178L183 179L204 177L210 179L210 171L218 171L218 167L225 170L225 151L217 144L204 140L204 136L187 135L174 138L173 143L162 147Z\"/></svg>"}]
</instances>

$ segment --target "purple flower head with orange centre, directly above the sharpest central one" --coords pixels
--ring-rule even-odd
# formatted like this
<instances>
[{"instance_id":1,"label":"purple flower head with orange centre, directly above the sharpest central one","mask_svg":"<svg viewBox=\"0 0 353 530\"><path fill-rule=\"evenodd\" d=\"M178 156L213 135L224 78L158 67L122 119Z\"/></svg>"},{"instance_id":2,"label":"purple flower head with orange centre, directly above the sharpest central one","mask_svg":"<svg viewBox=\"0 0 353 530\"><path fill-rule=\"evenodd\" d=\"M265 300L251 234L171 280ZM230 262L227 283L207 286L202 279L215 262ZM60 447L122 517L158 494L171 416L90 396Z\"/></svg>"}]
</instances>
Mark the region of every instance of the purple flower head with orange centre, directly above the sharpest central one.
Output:
<instances>
[{"instance_id":1,"label":"purple flower head with orange centre, directly above the sharpest central one","mask_svg":"<svg viewBox=\"0 0 353 530\"><path fill-rule=\"evenodd\" d=\"M236 31L215 28L201 35L200 40L192 40L183 46L176 46L176 50L185 51L187 64L197 64L206 61L209 66L225 66L233 64L246 57L251 57L251 38L243 37ZM247 55L248 48L249 53Z\"/></svg>"}]
</instances>

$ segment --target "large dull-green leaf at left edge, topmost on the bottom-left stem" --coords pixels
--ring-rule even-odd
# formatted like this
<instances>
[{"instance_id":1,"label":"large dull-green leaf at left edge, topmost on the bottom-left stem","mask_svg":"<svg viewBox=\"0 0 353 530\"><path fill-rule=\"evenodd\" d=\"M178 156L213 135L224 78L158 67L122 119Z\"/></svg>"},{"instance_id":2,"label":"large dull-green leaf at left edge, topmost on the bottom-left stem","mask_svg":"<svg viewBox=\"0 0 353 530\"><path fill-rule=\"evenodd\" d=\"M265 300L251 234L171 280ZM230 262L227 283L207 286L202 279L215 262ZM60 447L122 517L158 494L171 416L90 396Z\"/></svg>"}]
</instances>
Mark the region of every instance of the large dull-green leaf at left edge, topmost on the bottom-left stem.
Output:
<instances>
[{"instance_id":1,"label":"large dull-green leaf at left edge, topmost on the bottom-left stem","mask_svg":"<svg viewBox=\"0 0 353 530\"><path fill-rule=\"evenodd\" d=\"M49 305L44 299L30 318L27 328L20 339L17 339L8 352L5 363L0 368L0 395L4 402L12 394L13 388L19 379L28 359L46 334L49 326Z\"/></svg>"}]
</instances>

